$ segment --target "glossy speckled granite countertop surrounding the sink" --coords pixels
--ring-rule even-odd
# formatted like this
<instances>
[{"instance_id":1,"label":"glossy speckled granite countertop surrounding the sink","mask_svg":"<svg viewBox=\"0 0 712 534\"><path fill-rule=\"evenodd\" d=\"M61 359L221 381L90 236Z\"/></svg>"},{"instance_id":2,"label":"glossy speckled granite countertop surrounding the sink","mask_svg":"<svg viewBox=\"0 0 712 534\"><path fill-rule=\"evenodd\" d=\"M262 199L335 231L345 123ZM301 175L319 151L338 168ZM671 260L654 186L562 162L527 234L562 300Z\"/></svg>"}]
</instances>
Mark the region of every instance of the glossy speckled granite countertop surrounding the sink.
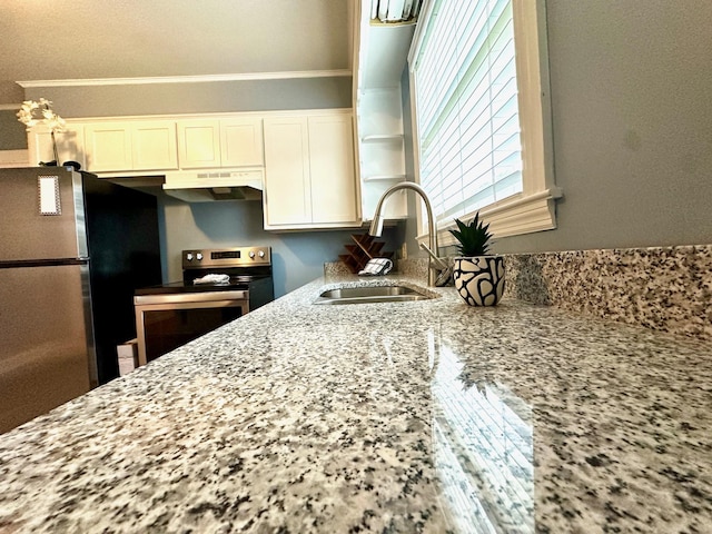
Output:
<instances>
[{"instance_id":1,"label":"glossy speckled granite countertop surrounding the sink","mask_svg":"<svg viewBox=\"0 0 712 534\"><path fill-rule=\"evenodd\" d=\"M0 532L712 532L712 346L312 284L0 436Z\"/></svg>"}]
</instances>

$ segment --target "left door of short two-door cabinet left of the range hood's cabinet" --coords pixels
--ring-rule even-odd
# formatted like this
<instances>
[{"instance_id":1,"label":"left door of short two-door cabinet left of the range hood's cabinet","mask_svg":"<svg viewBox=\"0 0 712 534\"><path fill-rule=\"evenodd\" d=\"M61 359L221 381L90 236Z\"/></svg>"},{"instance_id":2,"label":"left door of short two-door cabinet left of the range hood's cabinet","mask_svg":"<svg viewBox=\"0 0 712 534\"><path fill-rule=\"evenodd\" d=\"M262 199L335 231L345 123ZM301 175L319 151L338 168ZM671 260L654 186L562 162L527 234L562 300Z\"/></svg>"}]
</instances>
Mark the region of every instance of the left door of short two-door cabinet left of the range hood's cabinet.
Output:
<instances>
[{"instance_id":1,"label":"left door of short two-door cabinet left of the range hood's cabinet","mask_svg":"<svg viewBox=\"0 0 712 534\"><path fill-rule=\"evenodd\" d=\"M130 123L87 125L85 138L88 170L101 172L134 169Z\"/></svg>"}]
</instances>

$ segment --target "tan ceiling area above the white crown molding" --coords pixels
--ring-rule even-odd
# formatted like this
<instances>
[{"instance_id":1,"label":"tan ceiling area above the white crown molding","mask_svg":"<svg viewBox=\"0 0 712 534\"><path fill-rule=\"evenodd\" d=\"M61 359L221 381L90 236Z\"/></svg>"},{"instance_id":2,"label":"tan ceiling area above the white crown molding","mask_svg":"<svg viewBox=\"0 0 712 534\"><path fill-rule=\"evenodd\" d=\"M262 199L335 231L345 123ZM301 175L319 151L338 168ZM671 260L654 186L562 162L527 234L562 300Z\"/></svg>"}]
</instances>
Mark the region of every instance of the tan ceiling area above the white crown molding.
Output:
<instances>
[{"instance_id":1,"label":"tan ceiling area above the white crown molding","mask_svg":"<svg viewBox=\"0 0 712 534\"><path fill-rule=\"evenodd\" d=\"M350 70L354 0L2 0L0 80Z\"/></svg>"}]
</instances>

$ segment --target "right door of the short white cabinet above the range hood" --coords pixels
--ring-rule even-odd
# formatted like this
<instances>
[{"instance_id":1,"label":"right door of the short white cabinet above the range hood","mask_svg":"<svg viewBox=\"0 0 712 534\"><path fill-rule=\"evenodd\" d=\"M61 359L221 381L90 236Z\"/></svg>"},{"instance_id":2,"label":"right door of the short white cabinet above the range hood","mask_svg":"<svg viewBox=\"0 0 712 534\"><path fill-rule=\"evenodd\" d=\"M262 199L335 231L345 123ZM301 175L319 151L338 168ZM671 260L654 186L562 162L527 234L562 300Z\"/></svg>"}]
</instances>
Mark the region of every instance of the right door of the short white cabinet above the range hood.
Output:
<instances>
[{"instance_id":1,"label":"right door of the short white cabinet above the range hood","mask_svg":"<svg viewBox=\"0 0 712 534\"><path fill-rule=\"evenodd\" d=\"M263 119L220 120L222 167L261 167L263 152Z\"/></svg>"}]
</instances>

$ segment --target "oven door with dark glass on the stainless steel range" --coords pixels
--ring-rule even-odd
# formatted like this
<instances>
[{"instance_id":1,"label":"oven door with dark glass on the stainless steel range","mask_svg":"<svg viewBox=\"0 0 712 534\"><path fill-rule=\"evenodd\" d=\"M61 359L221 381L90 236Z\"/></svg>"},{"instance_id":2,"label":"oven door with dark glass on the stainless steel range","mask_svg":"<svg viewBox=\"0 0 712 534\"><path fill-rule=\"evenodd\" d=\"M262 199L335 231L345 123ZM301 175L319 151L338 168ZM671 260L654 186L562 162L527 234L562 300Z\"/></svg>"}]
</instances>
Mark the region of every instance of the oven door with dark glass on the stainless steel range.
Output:
<instances>
[{"instance_id":1,"label":"oven door with dark glass on the stainless steel range","mask_svg":"<svg viewBox=\"0 0 712 534\"><path fill-rule=\"evenodd\" d=\"M249 293L137 295L138 363L146 365L249 312Z\"/></svg>"}]
</instances>

